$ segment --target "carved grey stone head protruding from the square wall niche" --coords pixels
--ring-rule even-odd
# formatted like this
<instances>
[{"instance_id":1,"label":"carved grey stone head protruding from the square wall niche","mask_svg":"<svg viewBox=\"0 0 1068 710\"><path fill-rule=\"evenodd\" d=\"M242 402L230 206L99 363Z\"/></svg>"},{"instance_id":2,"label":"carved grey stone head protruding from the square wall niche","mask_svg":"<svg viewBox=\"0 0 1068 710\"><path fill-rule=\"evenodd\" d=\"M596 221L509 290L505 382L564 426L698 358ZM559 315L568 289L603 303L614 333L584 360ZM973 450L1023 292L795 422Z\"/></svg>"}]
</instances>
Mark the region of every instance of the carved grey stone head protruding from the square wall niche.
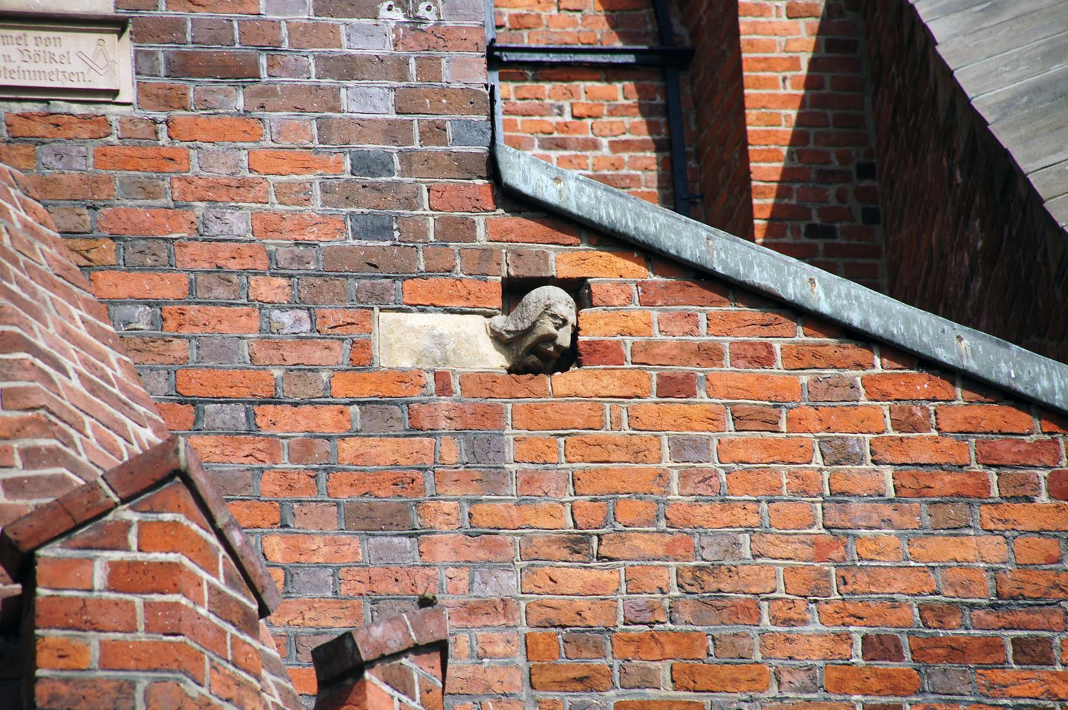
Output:
<instances>
[{"instance_id":1,"label":"carved grey stone head protruding from the square wall niche","mask_svg":"<svg viewBox=\"0 0 1068 710\"><path fill-rule=\"evenodd\" d=\"M575 300L555 286L535 288L512 315L489 320L489 334L508 351L509 373L548 373L571 346Z\"/></svg>"}]
</instances>

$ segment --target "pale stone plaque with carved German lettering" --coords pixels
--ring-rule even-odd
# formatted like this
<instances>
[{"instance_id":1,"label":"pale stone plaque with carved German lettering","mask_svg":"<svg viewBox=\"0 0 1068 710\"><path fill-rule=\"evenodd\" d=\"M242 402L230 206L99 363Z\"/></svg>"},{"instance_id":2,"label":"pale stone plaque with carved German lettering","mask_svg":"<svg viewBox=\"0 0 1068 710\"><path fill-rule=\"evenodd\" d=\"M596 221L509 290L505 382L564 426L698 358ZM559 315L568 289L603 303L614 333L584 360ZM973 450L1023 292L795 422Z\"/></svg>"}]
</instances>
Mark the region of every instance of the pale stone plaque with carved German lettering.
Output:
<instances>
[{"instance_id":1,"label":"pale stone plaque with carved German lettering","mask_svg":"<svg viewBox=\"0 0 1068 710\"><path fill-rule=\"evenodd\" d=\"M125 25L0 17L0 96L130 100Z\"/></svg>"}]
</instances>

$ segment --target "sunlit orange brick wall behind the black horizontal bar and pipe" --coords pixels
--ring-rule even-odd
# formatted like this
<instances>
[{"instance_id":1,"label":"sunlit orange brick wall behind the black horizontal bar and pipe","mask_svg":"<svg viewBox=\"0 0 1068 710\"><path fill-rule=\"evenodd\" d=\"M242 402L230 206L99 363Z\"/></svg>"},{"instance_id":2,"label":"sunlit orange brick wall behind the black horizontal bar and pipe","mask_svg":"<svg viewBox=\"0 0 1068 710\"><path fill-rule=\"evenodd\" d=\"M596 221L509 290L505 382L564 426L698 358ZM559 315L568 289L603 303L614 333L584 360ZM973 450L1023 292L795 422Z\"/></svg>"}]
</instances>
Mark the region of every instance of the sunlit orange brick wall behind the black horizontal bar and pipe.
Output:
<instances>
[{"instance_id":1,"label":"sunlit orange brick wall behind the black horizontal bar and pipe","mask_svg":"<svg viewBox=\"0 0 1068 710\"><path fill-rule=\"evenodd\" d=\"M496 22L500 44L660 44L648 0L503 2L497 4ZM508 145L649 202L674 205L662 69L509 66L500 78ZM688 164L695 176L697 124L689 82L681 89Z\"/></svg>"}]
</instances>

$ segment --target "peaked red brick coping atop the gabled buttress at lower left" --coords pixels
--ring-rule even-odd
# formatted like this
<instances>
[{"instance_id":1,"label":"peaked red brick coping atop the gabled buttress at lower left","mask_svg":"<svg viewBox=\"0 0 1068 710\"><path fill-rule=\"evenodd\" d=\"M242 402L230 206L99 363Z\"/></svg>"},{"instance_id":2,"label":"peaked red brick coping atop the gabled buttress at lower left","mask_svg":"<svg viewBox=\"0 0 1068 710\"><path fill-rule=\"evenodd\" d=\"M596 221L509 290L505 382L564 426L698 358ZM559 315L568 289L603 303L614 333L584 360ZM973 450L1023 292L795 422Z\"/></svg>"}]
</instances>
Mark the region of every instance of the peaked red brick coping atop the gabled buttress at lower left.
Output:
<instances>
[{"instance_id":1,"label":"peaked red brick coping atop the gabled buttress at lower left","mask_svg":"<svg viewBox=\"0 0 1068 710\"><path fill-rule=\"evenodd\" d=\"M278 585L192 446L174 435L5 525L0 532L0 565L18 581L29 571L27 562L35 551L175 478L186 484L207 514L255 596L260 617L268 616L282 601Z\"/></svg>"}]
</instances>

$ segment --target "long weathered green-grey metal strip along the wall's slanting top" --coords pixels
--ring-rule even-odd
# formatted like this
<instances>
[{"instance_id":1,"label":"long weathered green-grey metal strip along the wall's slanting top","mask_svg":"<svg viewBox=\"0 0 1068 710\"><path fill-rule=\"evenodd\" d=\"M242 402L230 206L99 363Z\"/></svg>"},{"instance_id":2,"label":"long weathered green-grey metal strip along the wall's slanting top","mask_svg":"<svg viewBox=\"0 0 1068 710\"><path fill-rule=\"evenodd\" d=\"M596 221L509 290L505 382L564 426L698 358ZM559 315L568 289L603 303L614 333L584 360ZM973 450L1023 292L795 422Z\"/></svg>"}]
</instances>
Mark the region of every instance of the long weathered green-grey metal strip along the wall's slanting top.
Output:
<instances>
[{"instance_id":1,"label":"long weathered green-grey metal strip along the wall's slanting top","mask_svg":"<svg viewBox=\"0 0 1068 710\"><path fill-rule=\"evenodd\" d=\"M499 135L499 133L498 133ZM502 187L546 209L1068 413L1068 365L681 217L497 141Z\"/></svg>"}]
</instances>

